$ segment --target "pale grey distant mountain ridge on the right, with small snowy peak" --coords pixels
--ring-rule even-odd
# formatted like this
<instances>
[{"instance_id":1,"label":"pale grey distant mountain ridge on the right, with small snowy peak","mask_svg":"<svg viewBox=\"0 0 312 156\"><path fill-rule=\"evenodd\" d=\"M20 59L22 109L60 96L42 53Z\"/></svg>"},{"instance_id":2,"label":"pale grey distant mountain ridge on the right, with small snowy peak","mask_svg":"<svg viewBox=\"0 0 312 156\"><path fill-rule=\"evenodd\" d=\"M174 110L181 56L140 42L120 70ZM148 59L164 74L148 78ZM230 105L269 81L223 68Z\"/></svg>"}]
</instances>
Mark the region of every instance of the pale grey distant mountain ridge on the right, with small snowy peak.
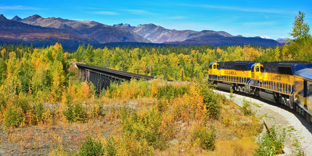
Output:
<instances>
[{"instance_id":1,"label":"pale grey distant mountain ridge on the right, with small snowy peak","mask_svg":"<svg viewBox=\"0 0 312 156\"><path fill-rule=\"evenodd\" d=\"M276 46L281 45L279 42L269 39L267 36L263 37L243 37L241 35L233 36L225 31L177 31L169 30L155 24L143 24L137 27L129 24L115 24L118 28L124 28L134 31L142 37L152 41L152 43L165 43L173 45L262 45L262 46Z\"/></svg>"}]
</instances>

